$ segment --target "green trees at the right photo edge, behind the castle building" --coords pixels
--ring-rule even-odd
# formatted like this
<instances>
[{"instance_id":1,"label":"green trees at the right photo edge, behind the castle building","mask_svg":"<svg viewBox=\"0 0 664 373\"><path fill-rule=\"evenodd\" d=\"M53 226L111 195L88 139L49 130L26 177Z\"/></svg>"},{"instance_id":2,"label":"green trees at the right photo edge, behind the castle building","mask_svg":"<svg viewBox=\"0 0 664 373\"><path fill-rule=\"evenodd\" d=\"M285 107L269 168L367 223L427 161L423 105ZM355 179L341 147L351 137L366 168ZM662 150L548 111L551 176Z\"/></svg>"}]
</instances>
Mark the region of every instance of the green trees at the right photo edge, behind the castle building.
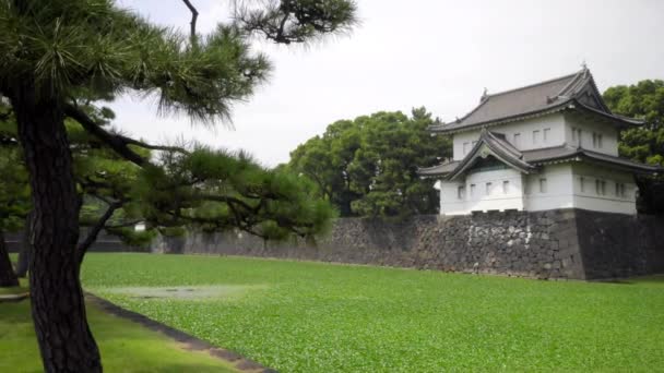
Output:
<instances>
[{"instance_id":1,"label":"green trees at the right photo edge, behind the castle building","mask_svg":"<svg viewBox=\"0 0 664 373\"><path fill-rule=\"evenodd\" d=\"M622 131L620 155L636 161L664 166L664 81L647 80L604 92L604 100L617 115L645 120L645 125ZM638 177L639 209L664 213L664 179Z\"/></svg>"}]
</instances>

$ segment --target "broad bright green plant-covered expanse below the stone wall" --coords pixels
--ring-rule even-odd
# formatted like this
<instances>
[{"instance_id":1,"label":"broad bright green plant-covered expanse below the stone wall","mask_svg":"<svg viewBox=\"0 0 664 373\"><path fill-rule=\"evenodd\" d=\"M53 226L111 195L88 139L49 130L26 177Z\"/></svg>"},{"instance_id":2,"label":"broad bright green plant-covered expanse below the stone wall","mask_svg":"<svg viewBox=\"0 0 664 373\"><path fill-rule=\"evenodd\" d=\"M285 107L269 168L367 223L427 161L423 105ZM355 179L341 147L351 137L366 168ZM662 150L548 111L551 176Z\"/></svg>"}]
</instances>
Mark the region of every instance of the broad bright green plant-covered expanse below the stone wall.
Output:
<instances>
[{"instance_id":1,"label":"broad bright green plant-covered expanse below the stone wall","mask_svg":"<svg viewBox=\"0 0 664 373\"><path fill-rule=\"evenodd\" d=\"M664 279L91 254L85 287L283 372L664 371Z\"/></svg>"}]
</instances>

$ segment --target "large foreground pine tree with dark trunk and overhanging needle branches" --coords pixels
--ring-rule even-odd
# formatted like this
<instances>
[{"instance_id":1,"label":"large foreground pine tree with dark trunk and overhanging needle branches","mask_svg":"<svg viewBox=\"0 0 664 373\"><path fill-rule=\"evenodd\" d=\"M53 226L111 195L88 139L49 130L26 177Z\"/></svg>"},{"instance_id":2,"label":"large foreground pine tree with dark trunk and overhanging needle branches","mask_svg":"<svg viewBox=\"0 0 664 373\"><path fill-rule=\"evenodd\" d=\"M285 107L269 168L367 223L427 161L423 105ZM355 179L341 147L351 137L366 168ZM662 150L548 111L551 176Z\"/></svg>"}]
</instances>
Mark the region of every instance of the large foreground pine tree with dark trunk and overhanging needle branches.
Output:
<instances>
[{"instance_id":1,"label":"large foreground pine tree with dark trunk and overhanging needle branches","mask_svg":"<svg viewBox=\"0 0 664 373\"><path fill-rule=\"evenodd\" d=\"M80 282L81 195L64 125L71 118L124 159L151 160L137 143L106 131L81 106L127 89L158 98L161 112L213 122L230 115L265 81L266 58L248 38L306 41L345 29L349 0L236 3L236 21L189 37L154 25L111 0L1 0L0 94L10 99L32 188L34 251L29 286L37 341L47 372L99 372Z\"/></svg>"}]
</instances>

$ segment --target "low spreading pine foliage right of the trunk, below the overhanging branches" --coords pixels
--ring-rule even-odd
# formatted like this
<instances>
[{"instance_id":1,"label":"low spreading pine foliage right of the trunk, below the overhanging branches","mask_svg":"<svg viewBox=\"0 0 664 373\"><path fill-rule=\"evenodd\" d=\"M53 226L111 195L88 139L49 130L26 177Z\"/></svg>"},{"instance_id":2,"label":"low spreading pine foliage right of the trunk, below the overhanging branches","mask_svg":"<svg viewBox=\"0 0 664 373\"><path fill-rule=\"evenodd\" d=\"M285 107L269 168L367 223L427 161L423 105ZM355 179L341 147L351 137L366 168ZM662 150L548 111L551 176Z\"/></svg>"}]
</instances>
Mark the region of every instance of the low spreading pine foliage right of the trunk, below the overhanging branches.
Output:
<instances>
[{"instance_id":1,"label":"low spreading pine foliage right of the trunk, below the overhanging branches","mask_svg":"<svg viewBox=\"0 0 664 373\"><path fill-rule=\"evenodd\" d=\"M261 167L244 153L199 146L163 153L159 164L144 168L133 190L154 227L238 228L283 240L320 234L335 216L309 180Z\"/></svg>"}]
</instances>

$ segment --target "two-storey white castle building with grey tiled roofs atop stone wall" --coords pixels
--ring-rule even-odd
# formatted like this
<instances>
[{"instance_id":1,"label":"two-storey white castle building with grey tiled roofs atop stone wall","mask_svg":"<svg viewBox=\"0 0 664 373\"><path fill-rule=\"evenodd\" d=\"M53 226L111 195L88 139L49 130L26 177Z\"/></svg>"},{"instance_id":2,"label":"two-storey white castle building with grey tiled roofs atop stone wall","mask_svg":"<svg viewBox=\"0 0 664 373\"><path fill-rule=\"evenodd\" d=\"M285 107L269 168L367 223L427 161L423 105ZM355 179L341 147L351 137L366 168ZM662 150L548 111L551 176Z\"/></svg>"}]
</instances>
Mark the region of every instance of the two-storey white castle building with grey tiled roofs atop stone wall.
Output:
<instances>
[{"instance_id":1,"label":"two-storey white castle building with grey tiled roofs atop stone wall","mask_svg":"<svg viewBox=\"0 0 664 373\"><path fill-rule=\"evenodd\" d=\"M440 214L583 208L636 214L637 173L662 169L618 156L618 134L642 121L610 112L590 71L482 96L434 134L453 158L419 170L440 182Z\"/></svg>"}]
</instances>

